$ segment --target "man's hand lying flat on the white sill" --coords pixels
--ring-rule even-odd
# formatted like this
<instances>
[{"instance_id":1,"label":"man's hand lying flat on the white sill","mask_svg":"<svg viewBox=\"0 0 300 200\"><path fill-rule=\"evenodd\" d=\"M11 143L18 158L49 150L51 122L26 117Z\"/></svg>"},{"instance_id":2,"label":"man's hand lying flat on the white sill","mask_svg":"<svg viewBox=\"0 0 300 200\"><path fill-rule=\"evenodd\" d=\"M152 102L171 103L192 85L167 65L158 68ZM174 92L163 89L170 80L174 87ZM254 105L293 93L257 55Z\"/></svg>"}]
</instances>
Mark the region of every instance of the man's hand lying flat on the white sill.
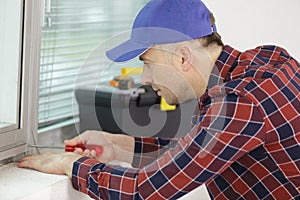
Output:
<instances>
[{"instance_id":1,"label":"man's hand lying flat on the white sill","mask_svg":"<svg viewBox=\"0 0 300 200\"><path fill-rule=\"evenodd\" d=\"M73 163L81 157L75 153L28 155L20 159L18 167L35 169L49 174L66 174L71 178Z\"/></svg>"}]
</instances>

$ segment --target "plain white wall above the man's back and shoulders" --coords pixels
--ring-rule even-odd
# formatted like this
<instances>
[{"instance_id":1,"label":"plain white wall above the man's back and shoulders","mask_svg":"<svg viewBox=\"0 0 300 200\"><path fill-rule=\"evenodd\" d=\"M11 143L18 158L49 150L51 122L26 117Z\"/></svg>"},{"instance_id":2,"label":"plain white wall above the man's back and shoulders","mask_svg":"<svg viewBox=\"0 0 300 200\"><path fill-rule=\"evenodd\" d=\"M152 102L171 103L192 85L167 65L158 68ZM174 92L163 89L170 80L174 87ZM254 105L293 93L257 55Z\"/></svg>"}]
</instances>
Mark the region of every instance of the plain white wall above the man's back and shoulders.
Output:
<instances>
[{"instance_id":1,"label":"plain white wall above the man's back and shoulders","mask_svg":"<svg viewBox=\"0 0 300 200\"><path fill-rule=\"evenodd\" d=\"M238 50L276 44L300 60L299 0L203 0L225 44Z\"/></svg>"}]
</instances>

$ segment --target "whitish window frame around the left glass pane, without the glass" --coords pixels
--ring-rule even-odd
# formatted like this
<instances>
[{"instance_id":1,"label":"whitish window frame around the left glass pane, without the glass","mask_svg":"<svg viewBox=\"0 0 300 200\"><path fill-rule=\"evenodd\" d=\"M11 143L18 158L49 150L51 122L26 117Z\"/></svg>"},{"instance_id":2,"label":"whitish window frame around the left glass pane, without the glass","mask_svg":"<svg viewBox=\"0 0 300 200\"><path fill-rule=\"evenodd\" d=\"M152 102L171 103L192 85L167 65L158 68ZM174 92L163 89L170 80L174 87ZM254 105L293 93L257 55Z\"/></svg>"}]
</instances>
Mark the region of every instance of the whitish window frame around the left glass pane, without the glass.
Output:
<instances>
[{"instance_id":1,"label":"whitish window frame around the left glass pane, without the glass","mask_svg":"<svg viewBox=\"0 0 300 200\"><path fill-rule=\"evenodd\" d=\"M26 144L37 139L37 105L43 1L22 1L20 31L19 126L0 133L0 161L26 152ZM20 10L20 12L22 12ZM22 24L23 23L23 24ZM2 131L3 131L2 130Z\"/></svg>"}]
</instances>

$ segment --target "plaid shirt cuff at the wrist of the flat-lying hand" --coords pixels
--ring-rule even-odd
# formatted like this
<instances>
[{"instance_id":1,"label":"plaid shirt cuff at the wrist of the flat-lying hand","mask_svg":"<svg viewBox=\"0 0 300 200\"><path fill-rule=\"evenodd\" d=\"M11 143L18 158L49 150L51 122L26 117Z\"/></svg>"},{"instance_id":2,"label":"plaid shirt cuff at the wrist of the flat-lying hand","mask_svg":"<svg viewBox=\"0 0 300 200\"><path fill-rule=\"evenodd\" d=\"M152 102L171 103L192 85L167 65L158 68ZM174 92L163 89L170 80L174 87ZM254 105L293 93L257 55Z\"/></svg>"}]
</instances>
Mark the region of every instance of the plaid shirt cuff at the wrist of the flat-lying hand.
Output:
<instances>
[{"instance_id":1,"label":"plaid shirt cuff at the wrist of the flat-lying hand","mask_svg":"<svg viewBox=\"0 0 300 200\"><path fill-rule=\"evenodd\" d=\"M99 161L89 157L82 157L74 162L72 169L72 185L74 189L87 193L87 178L91 168Z\"/></svg>"}]
</instances>

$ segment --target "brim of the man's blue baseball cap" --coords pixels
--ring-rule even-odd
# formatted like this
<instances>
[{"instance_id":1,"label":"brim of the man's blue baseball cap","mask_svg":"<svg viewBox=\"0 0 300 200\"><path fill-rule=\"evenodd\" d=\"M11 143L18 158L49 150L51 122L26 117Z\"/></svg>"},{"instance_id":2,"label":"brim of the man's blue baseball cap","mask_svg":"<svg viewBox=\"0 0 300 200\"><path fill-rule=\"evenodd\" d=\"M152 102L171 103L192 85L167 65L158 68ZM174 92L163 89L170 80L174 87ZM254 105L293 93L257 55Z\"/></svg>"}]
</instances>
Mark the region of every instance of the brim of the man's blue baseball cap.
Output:
<instances>
[{"instance_id":1,"label":"brim of the man's blue baseball cap","mask_svg":"<svg viewBox=\"0 0 300 200\"><path fill-rule=\"evenodd\" d=\"M150 47L151 45L149 44L147 45L132 40L127 40L126 42L107 51L106 56L114 62L125 62L140 56Z\"/></svg>"}]
</instances>

